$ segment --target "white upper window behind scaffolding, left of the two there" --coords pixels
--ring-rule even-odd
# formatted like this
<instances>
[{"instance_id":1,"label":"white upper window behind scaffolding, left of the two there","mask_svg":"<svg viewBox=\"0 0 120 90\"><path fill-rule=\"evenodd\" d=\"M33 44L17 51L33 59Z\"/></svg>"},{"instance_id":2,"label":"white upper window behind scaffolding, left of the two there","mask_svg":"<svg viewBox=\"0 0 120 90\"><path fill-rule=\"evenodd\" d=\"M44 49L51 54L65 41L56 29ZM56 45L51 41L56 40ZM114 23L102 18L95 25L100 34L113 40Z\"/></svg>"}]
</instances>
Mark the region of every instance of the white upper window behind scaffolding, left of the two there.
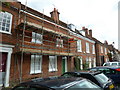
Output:
<instances>
[{"instance_id":1,"label":"white upper window behind scaffolding, left of the two there","mask_svg":"<svg viewBox=\"0 0 120 90\"><path fill-rule=\"evenodd\" d=\"M42 34L32 32L32 42L33 43L42 44L42 39L43 39Z\"/></svg>"}]
</instances>

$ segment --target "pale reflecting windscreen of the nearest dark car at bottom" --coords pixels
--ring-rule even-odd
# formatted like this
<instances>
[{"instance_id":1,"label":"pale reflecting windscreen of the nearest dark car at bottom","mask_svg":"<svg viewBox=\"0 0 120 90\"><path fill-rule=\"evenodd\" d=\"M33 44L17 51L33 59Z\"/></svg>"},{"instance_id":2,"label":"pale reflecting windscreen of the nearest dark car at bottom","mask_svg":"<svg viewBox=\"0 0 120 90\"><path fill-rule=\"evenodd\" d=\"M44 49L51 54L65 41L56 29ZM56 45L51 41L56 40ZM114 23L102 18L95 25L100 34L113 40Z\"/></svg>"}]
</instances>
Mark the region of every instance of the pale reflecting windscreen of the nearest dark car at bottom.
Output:
<instances>
[{"instance_id":1,"label":"pale reflecting windscreen of the nearest dark car at bottom","mask_svg":"<svg viewBox=\"0 0 120 90\"><path fill-rule=\"evenodd\" d=\"M73 86L70 86L69 88L65 89L65 90L74 90L74 89L79 89L81 90L82 88L85 89L90 89L93 90L95 88L97 89L100 89L99 86L97 86L96 84L94 84L93 82L90 82L90 81L87 81L87 80L84 80L82 82L79 82L79 83L76 83L74 84ZM83 90L83 89L82 89Z\"/></svg>"}]
</instances>

